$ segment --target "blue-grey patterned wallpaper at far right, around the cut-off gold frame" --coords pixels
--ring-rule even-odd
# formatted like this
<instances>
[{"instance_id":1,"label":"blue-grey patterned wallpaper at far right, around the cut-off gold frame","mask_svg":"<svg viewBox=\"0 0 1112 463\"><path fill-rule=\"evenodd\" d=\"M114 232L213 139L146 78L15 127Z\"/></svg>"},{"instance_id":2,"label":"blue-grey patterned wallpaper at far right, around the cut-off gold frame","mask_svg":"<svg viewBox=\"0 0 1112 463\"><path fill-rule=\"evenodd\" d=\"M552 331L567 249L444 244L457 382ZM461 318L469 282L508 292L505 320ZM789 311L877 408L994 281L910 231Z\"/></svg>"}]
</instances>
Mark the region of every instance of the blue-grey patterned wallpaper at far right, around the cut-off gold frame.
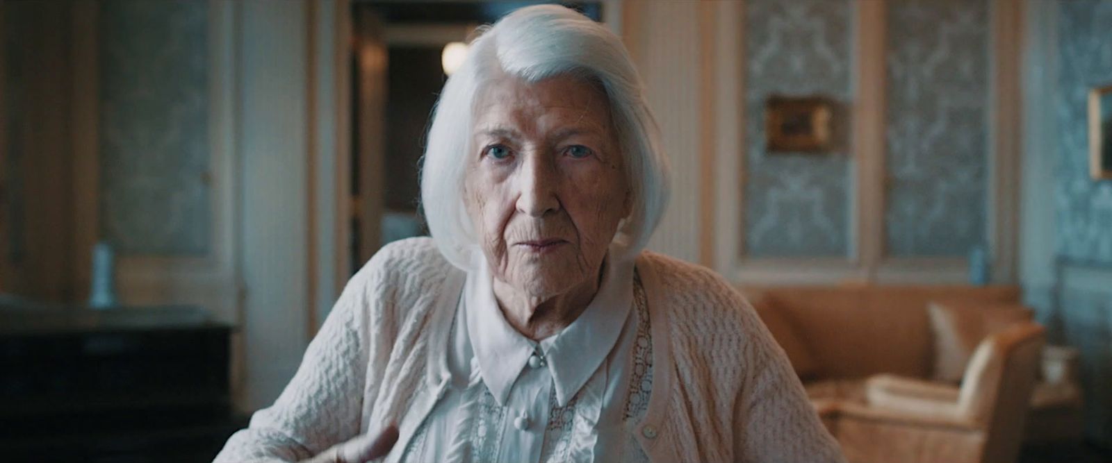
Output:
<instances>
[{"instance_id":1,"label":"blue-grey patterned wallpaper at far right, around the cut-off gold frame","mask_svg":"<svg viewBox=\"0 0 1112 463\"><path fill-rule=\"evenodd\" d=\"M1081 350L1089 434L1112 445L1112 181L1089 177L1086 124L1086 93L1112 84L1112 1L1058 11L1056 334Z\"/></svg>"}]
</instances>

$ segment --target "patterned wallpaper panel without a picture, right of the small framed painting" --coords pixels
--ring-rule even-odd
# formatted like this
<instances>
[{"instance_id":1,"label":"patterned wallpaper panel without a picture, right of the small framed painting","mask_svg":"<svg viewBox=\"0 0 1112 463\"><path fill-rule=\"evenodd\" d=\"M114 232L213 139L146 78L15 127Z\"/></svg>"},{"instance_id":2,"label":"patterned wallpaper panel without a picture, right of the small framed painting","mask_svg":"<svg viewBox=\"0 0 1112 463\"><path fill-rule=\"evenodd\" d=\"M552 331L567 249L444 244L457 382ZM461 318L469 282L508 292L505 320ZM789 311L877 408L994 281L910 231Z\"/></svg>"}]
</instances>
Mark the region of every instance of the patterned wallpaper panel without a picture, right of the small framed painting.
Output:
<instances>
[{"instance_id":1,"label":"patterned wallpaper panel without a picture, right of the small framed painting","mask_svg":"<svg viewBox=\"0 0 1112 463\"><path fill-rule=\"evenodd\" d=\"M986 239L989 33L985 0L888 3L888 255L964 256Z\"/></svg>"}]
</instances>

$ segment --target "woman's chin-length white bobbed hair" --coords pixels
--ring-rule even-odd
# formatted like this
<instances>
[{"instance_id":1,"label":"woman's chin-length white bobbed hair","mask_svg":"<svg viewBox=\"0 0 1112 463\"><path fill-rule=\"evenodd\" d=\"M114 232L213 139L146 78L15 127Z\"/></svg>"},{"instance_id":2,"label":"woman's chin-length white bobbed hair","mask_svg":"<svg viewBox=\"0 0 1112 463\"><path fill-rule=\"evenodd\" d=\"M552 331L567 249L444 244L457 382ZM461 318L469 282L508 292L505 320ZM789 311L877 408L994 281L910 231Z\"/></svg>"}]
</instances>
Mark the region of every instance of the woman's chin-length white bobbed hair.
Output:
<instances>
[{"instance_id":1,"label":"woman's chin-length white bobbed hair","mask_svg":"<svg viewBox=\"0 0 1112 463\"><path fill-rule=\"evenodd\" d=\"M632 209L612 243L618 259L637 255L668 202L668 162L644 85L622 40L604 26L559 6L518 9L480 28L467 59L448 78L433 113L421 167L421 205L440 253L469 270L478 236L464 203L476 95L499 76L537 82L576 76L597 82L609 101L631 187Z\"/></svg>"}]
</instances>

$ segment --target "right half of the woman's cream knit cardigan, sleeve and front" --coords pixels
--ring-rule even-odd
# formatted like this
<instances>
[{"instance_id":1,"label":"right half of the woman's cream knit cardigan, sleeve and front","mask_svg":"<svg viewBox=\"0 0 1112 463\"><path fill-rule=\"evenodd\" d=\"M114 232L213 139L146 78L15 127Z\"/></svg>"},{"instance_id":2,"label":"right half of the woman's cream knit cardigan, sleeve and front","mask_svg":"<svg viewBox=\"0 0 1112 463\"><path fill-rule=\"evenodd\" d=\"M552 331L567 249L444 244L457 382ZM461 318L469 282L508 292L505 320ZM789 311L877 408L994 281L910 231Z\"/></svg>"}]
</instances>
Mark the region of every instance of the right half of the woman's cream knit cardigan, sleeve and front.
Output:
<instances>
[{"instance_id":1,"label":"right half of the woman's cream knit cardigan, sleeve and front","mask_svg":"<svg viewBox=\"0 0 1112 463\"><path fill-rule=\"evenodd\" d=\"M659 275L656 302L667 308L676 369L662 433L662 444L674 450L662 457L844 462L787 355L745 298L709 269L646 254Z\"/></svg>"}]
</instances>

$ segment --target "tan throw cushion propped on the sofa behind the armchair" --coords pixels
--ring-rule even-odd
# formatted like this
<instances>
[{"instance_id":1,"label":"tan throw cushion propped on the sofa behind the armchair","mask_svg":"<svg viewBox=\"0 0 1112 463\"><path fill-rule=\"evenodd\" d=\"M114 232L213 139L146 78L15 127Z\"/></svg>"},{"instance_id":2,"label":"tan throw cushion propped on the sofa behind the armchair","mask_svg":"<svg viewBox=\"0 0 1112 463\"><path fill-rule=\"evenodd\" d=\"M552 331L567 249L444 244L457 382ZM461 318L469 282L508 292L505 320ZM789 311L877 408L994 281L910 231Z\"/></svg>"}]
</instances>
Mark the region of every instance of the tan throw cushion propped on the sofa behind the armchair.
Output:
<instances>
[{"instance_id":1,"label":"tan throw cushion propped on the sofa behind the armchair","mask_svg":"<svg viewBox=\"0 0 1112 463\"><path fill-rule=\"evenodd\" d=\"M942 301L927 304L934 334L935 381L956 383L977 344L1016 322L1031 321L1030 309L1016 304Z\"/></svg>"}]
</instances>

